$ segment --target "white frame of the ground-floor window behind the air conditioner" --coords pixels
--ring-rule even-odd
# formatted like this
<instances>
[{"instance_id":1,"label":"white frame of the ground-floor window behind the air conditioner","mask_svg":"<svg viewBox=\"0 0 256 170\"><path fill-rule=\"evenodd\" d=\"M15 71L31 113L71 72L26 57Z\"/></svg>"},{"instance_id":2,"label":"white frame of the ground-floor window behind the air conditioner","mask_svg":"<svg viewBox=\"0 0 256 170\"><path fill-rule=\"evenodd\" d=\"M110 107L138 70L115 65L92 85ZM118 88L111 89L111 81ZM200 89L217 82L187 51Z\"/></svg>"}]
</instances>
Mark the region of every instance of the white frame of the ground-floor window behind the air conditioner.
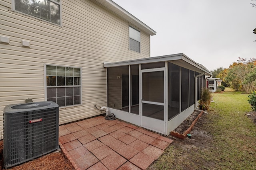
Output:
<instances>
[{"instance_id":1,"label":"white frame of the ground-floor window behind the air conditioner","mask_svg":"<svg viewBox=\"0 0 256 170\"><path fill-rule=\"evenodd\" d=\"M56 86L47 86L47 73L46 73L46 66L60 66L60 67L71 67L71 68L80 68L80 85L72 85L72 86L58 86L59 88L61 87L80 87L80 104L76 105L68 105L68 106L60 106L60 108L66 108L66 107L74 107L74 106L82 106L83 101L82 101L82 67L77 67L77 66L68 66L68 65L58 65L58 64L44 64L44 100L47 101L47 88L49 87L57 87ZM65 94L66 97L66 94Z\"/></svg>"}]
</instances>

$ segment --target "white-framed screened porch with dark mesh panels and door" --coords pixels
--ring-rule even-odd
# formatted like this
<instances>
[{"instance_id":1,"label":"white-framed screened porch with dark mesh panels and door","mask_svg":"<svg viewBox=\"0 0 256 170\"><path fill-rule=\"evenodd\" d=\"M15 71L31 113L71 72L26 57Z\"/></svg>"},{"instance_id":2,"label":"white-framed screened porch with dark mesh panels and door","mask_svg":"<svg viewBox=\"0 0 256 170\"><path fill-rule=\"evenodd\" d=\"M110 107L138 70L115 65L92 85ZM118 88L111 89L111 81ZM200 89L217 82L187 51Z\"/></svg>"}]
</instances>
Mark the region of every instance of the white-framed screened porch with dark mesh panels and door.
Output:
<instances>
[{"instance_id":1,"label":"white-framed screened porch with dark mesh panels and door","mask_svg":"<svg viewBox=\"0 0 256 170\"><path fill-rule=\"evenodd\" d=\"M193 113L205 78L211 75L182 53L104 63L104 67L109 112L163 135Z\"/></svg>"}]
</instances>

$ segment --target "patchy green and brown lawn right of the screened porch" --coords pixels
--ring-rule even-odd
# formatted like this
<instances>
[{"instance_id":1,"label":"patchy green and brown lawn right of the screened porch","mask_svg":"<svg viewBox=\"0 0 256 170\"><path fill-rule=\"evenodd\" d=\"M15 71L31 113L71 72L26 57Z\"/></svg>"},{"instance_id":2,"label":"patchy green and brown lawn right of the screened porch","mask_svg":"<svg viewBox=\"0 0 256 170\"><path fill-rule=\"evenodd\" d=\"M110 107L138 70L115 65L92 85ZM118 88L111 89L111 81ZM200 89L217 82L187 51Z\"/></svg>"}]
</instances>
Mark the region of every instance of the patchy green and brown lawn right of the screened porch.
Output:
<instances>
[{"instance_id":1,"label":"patchy green and brown lawn right of the screened porch","mask_svg":"<svg viewBox=\"0 0 256 170\"><path fill-rule=\"evenodd\" d=\"M185 146L190 143L178 141L181 144L168 147L151 169L256 169L256 125L246 115L252 111L248 94L225 91L213 94L215 103L201 122L201 130L212 135L208 145L189 148Z\"/></svg>"}]
</instances>

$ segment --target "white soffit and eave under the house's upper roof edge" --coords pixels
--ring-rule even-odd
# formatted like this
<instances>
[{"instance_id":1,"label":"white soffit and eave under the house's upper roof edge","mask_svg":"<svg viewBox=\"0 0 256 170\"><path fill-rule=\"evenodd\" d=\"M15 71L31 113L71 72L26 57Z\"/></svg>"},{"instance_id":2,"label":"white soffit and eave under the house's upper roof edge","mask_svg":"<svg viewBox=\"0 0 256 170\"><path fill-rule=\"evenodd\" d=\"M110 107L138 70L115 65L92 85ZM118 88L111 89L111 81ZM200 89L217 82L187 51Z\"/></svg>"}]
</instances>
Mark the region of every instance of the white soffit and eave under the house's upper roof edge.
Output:
<instances>
[{"instance_id":1,"label":"white soffit and eave under the house's upper roof edge","mask_svg":"<svg viewBox=\"0 0 256 170\"><path fill-rule=\"evenodd\" d=\"M105 8L108 8L110 11L114 12L124 20L128 21L131 25L135 25L136 27L140 28L144 32L148 33L149 35L156 35L156 31L148 27L145 23L140 21L138 18L124 10L121 6L113 2L112 0L94 0L104 6Z\"/></svg>"}]
</instances>

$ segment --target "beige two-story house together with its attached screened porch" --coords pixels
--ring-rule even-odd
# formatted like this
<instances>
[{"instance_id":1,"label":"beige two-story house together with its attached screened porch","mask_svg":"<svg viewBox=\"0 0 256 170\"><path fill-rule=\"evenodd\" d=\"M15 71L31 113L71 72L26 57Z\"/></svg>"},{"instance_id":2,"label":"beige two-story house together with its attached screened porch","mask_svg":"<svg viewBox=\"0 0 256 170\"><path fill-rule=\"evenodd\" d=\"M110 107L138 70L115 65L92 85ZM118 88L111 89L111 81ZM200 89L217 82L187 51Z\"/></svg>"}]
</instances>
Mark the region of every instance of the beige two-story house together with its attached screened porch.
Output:
<instances>
[{"instance_id":1,"label":"beige two-story house together with its attached screened porch","mask_svg":"<svg viewBox=\"0 0 256 170\"><path fill-rule=\"evenodd\" d=\"M133 119L142 117L145 104L157 103L164 106L165 116L170 112L170 117L160 122L165 129L167 119L179 115L173 128L192 113L198 89L205 84L204 76L210 74L183 54L149 58L150 36L156 31L112 0L4 0L0 16L0 139L3 108L26 100L56 102L60 124L100 115L96 105L108 106L120 119L123 116L119 112L128 112L132 116L126 115L124 120L142 127L147 126ZM120 67L124 69L120 71ZM154 72L146 72L148 69ZM142 80L146 74L147 79ZM168 80L170 74L178 85L166 85L172 81ZM153 84L142 87L143 81ZM197 86L193 85L196 82ZM146 88L156 89L153 96L164 90L164 98L148 96L141 100L141 90ZM158 107L154 109L159 111ZM166 135L168 130L160 133Z\"/></svg>"}]
</instances>

